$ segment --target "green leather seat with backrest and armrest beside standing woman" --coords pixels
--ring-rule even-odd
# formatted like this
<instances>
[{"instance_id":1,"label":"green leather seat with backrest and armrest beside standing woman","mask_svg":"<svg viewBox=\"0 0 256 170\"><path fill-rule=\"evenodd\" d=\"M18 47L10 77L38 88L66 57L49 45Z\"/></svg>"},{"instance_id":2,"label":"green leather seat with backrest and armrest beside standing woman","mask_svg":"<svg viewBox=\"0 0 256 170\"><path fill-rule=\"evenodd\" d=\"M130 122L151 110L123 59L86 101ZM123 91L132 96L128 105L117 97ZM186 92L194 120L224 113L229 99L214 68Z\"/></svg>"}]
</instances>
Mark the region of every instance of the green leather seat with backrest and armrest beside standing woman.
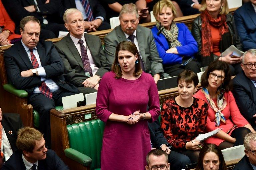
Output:
<instances>
[{"instance_id":1,"label":"green leather seat with backrest and armrest beside standing woman","mask_svg":"<svg viewBox=\"0 0 256 170\"><path fill-rule=\"evenodd\" d=\"M100 170L104 127L99 119L67 125L69 148L64 150L65 156L91 170Z\"/></svg>"}]
</instances>

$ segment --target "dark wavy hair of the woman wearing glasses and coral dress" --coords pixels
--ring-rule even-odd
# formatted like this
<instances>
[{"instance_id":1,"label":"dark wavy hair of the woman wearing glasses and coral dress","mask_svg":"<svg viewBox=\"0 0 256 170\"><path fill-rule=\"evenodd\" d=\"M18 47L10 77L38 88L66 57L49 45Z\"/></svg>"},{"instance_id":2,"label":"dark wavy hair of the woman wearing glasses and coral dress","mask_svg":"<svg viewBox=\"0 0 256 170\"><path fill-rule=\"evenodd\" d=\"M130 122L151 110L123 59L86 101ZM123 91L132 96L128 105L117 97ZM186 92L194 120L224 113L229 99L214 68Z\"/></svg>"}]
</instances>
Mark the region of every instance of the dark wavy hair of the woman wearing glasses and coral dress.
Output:
<instances>
[{"instance_id":1,"label":"dark wavy hair of the woman wearing glasses and coral dress","mask_svg":"<svg viewBox=\"0 0 256 170\"><path fill-rule=\"evenodd\" d=\"M225 73L224 82L222 83L222 86L220 86L220 87L222 87L226 91L232 90L232 81L231 81L231 73L230 73L229 66L227 63L225 63L223 61L219 61L219 60L213 61L208 66L206 71L203 73L203 75L201 77L201 86L207 87L209 85L208 78L210 76L210 72L213 72L214 70L221 70L221 71L224 71L224 73Z\"/></svg>"}]
</instances>

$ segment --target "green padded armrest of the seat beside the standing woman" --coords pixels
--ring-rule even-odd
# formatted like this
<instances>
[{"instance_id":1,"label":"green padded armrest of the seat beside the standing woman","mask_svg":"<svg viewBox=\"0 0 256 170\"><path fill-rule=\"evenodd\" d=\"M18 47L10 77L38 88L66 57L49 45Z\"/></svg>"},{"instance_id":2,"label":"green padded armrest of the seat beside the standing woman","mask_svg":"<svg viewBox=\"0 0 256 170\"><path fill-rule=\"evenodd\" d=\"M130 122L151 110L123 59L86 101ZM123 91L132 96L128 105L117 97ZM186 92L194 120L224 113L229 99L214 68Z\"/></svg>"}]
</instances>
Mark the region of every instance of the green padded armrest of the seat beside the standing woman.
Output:
<instances>
[{"instance_id":1,"label":"green padded armrest of the seat beside the standing woman","mask_svg":"<svg viewBox=\"0 0 256 170\"><path fill-rule=\"evenodd\" d=\"M83 166L90 166L92 163L92 159L81 152L78 152L75 149L68 148L64 150L65 156L68 158L82 164Z\"/></svg>"}]
</instances>

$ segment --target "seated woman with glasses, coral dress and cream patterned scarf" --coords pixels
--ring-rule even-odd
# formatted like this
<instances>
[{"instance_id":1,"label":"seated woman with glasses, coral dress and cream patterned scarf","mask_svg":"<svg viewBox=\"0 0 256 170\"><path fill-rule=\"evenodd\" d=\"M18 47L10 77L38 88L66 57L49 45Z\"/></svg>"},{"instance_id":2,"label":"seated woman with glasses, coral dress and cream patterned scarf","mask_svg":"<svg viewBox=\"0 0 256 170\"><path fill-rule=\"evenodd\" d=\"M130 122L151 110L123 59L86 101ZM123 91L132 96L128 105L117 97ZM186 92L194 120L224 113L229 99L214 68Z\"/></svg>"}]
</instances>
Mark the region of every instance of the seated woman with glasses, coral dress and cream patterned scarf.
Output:
<instances>
[{"instance_id":1,"label":"seated woman with glasses, coral dress and cream patterned scarf","mask_svg":"<svg viewBox=\"0 0 256 170\"><path fill-rule=\"evenodd\" d=\"M244 136L255 132L241 115L233 94L230 69L222 61L212 62L201 77L202 89L194 97L203 99L209 106L206 131L222 128L215 136L206 140L221 149L242 145Z\"/></svg>"}]
</instances>

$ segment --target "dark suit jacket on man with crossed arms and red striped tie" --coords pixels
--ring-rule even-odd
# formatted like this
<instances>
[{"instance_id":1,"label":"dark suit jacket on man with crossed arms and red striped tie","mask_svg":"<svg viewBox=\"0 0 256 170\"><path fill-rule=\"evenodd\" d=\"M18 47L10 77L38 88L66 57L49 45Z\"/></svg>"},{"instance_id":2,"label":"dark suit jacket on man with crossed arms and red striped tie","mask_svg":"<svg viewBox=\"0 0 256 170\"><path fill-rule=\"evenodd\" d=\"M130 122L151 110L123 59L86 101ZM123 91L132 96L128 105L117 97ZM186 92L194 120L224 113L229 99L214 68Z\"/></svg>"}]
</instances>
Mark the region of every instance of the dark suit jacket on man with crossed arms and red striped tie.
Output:
<instances>
[{"instance_id":1,"label":"dark suit jacket on man with crossed arms and red striped tie","mask_svg":"<svg viewBox=\"0 0 256 170\"><path fill-rule=\"evenodd\" d=\"M46 72L45 78L52 79L57 85L70 92L78 93L77 88L72 84L68 84L62 75L64 71L63 62L59 53L53 46L53 42L39 41L37 51L41 65ZM33 69L28 54L21 44L21 40L5 51L4 60L8 80L17 89L33 93L34 87L42 84L41 77L39 76L21 77L20 75L21 71Z\"/></svg>"}]
</instances>

